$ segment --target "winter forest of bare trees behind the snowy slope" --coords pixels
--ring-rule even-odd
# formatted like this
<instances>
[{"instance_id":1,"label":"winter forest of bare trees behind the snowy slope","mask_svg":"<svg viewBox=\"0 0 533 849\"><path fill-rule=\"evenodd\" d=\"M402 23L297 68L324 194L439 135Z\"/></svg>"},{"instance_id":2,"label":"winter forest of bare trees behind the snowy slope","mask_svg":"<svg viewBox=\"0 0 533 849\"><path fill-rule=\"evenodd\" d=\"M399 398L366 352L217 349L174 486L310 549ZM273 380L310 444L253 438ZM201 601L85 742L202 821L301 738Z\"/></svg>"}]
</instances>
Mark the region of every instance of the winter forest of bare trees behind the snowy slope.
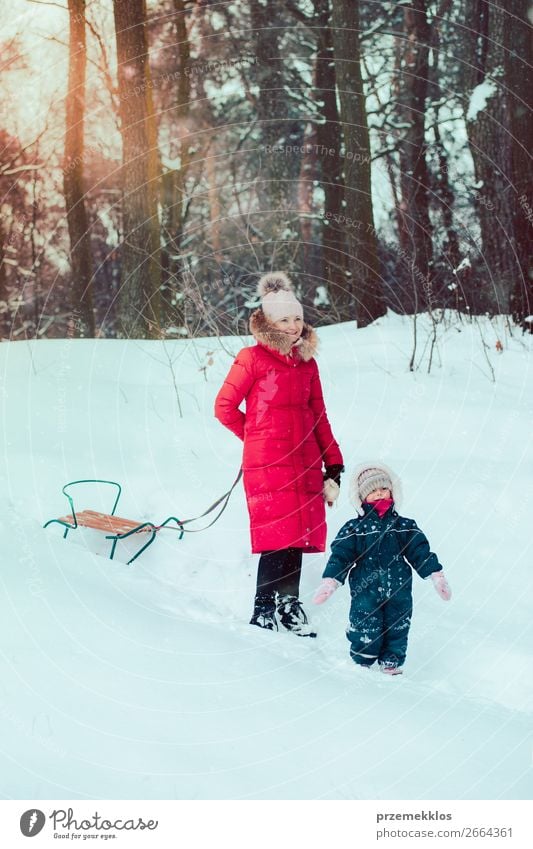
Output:
<instances>
[{"instance_id":1,"label":"winter forest of bare trees behind the snowy slope","mask_svg":"<svg viewBox=\"0 0 533 849\"><path fill-rule=\"evenodd\" d=\"M3 339L246 334L270 269L531 329L531 3L0 7Z\"/></svg>"}]
</instances>

